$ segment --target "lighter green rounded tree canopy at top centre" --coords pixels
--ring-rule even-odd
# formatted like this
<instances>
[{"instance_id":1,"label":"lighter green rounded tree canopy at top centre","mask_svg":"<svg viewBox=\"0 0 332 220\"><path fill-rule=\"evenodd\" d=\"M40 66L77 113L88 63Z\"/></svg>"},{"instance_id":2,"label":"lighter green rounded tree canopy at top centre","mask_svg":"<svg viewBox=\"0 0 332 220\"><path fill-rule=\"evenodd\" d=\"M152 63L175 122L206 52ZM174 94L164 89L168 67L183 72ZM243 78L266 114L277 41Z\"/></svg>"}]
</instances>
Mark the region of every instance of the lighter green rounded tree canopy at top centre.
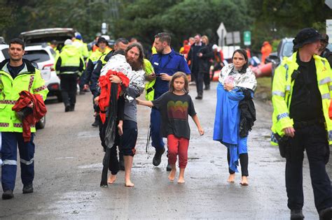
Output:
<instances>
[{"instance_id":1,"label":"lighter green rounded tree canopy at top centre","mask_svg":"<svg viewBox=\"0 0 332 220\"><path fill-rule=\"evenodd\" d=\"M123 16L114 23L114 31L116 37L136 36L148 45L161 31L172 34L172 46L176 48L196 33L206 34L216 43L216 29L221 22L229 31L242 31L254 22L247 8L247 1L241 0L137 0L123 4Z\"/></svg>"}]
</instances>

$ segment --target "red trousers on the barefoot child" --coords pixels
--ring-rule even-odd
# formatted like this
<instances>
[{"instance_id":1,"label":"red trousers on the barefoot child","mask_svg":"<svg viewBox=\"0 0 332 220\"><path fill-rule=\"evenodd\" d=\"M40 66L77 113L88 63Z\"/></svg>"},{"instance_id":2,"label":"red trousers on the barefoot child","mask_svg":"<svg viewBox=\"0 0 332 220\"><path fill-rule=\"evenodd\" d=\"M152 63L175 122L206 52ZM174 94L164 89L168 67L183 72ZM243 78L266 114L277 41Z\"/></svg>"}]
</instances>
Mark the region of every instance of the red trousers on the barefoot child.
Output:
<instances>
[{"instance_id":1,"label":"red trousers on the barefoot child","mask_svg":"<svg viewBox=\"0 0 332 220\"><path fill-rule=\"evenodd\" d=\"M168 163L171 165L177 163L177 155L179 154L179 168L186 168L188 163L189 139L177 138L171 134L167 136L167 145Z\"/></svg>"}]
</instances>

